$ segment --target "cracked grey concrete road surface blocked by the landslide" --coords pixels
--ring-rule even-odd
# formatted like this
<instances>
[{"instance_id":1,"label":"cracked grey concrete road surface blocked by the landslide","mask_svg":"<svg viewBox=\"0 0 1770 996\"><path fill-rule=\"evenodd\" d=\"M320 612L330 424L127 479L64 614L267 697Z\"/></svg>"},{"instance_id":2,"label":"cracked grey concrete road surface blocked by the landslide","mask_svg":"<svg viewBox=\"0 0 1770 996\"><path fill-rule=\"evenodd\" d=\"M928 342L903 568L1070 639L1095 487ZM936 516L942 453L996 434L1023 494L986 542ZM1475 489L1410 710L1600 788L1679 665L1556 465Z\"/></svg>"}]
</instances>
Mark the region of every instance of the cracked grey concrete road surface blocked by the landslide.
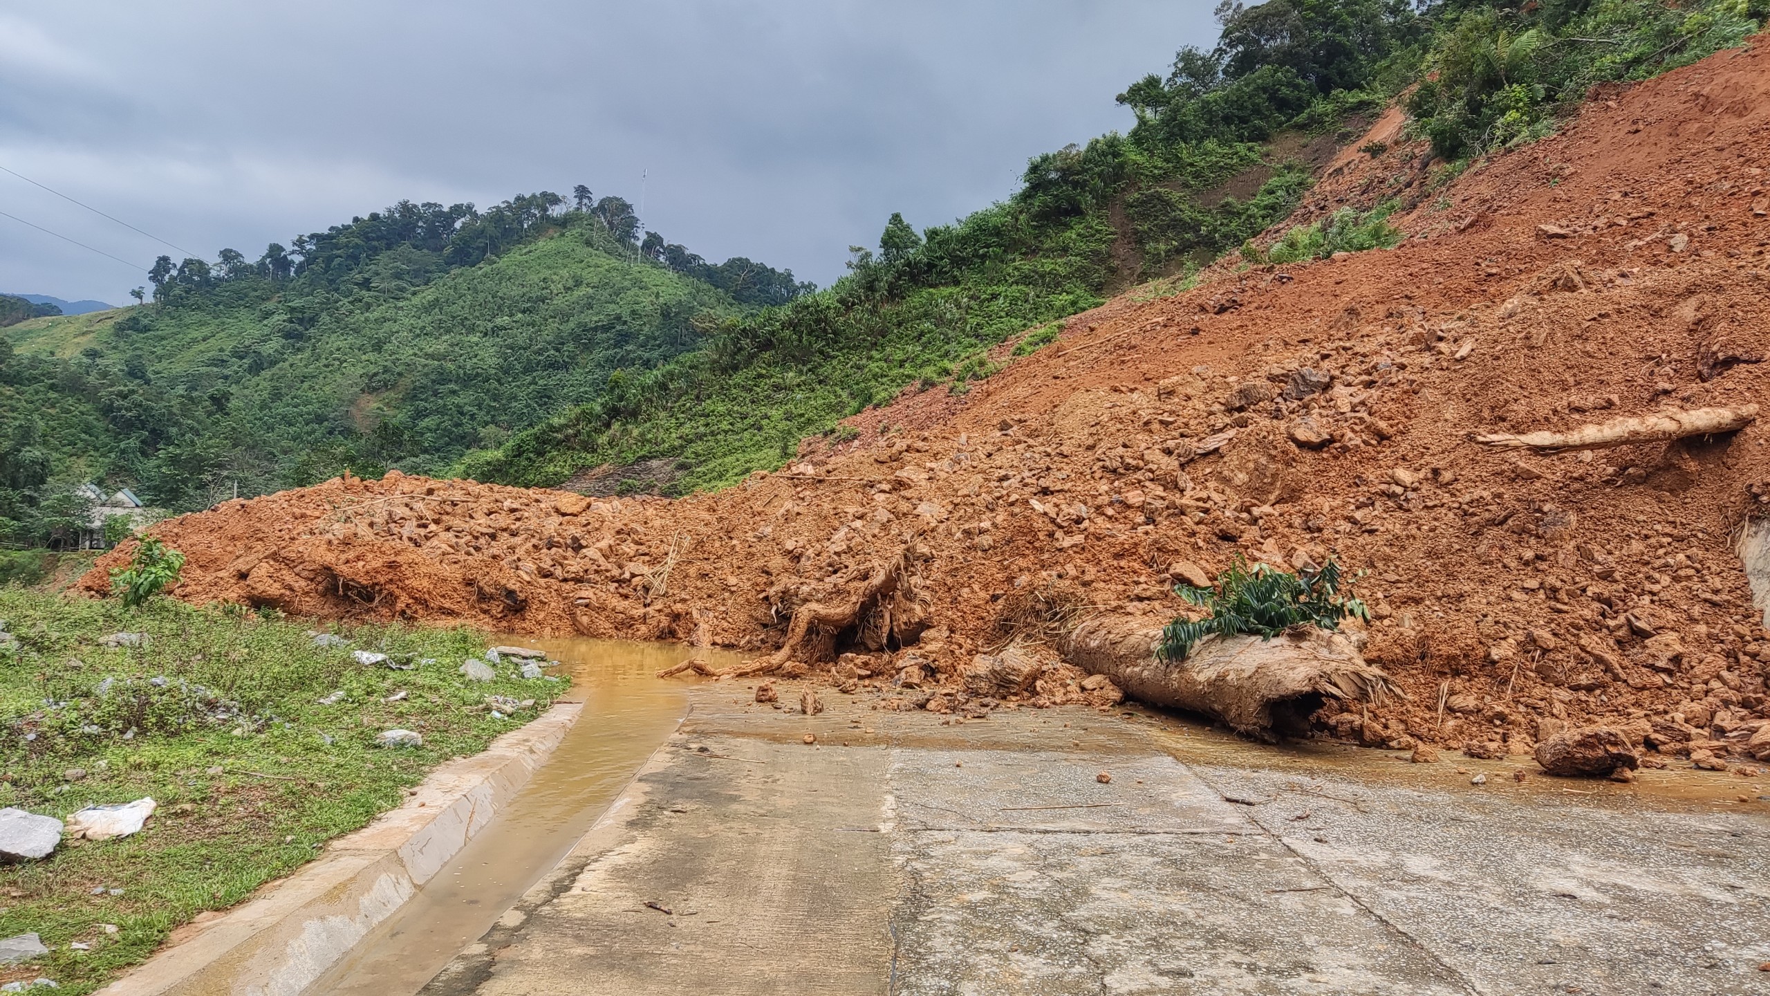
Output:
<instances>
[{"instance_id":1,"label":"cracked grey concrete road surface blocked by the landslide","mask_svg":"<svg viewBox=\"0 0 1770 996\"><path fill-rule=\"evenodd\" d=\"M1269 748L1140 711L747 698L697 686L609 815L425 992L1770 992L1765 778L1520 783L1533 764Z\"/></svg>"}]
</instances>

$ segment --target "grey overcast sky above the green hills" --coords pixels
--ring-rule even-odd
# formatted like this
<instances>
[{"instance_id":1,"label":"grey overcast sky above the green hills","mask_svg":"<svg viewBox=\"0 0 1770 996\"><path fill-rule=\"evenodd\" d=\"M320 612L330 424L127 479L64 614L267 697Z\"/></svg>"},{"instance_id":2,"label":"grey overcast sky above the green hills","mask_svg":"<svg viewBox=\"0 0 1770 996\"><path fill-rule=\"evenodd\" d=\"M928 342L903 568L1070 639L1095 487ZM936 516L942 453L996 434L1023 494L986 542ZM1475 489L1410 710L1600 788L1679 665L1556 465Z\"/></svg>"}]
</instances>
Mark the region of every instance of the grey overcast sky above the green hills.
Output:
<instances>
[{"instance_id":1,"label":"grey overcast sky above the green hills","mask_svg":"<svg viewBox=\"0 0 1770 996\"><path fill-rule=\"evenodd\" d=\"M1211 0L0 0L0 167L205 259L398 198L644 197L712 261L828 284L1209 44ZM643 184L641 175L650 179ZM124 303L166 245L0 174L0 291Z\"/></svg>"}]
</instances>

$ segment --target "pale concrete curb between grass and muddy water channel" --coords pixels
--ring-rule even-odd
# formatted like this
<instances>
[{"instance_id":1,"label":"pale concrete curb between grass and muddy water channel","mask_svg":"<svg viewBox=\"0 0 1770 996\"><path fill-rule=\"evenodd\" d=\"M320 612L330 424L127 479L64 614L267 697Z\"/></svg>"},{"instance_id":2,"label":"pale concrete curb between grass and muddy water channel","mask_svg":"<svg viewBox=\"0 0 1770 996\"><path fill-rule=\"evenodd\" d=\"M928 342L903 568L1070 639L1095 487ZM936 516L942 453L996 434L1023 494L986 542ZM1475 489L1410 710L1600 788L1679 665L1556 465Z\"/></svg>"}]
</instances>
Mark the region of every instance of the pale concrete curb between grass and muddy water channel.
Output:
<instances>
[{"instance_id":1,"label":"pale concrete curb between grass and muddy water channel","mask_svg":"<svg viewBox=\"0 0 1770 996\"><path fill-rule=\"evenodd\" d=\"M577 721L563 702L483 753L448 762L418 792L104 987L108 996L296 996L448 863ZM182 936L181 936L182 934Z\"/></svg>"}]
</instances>

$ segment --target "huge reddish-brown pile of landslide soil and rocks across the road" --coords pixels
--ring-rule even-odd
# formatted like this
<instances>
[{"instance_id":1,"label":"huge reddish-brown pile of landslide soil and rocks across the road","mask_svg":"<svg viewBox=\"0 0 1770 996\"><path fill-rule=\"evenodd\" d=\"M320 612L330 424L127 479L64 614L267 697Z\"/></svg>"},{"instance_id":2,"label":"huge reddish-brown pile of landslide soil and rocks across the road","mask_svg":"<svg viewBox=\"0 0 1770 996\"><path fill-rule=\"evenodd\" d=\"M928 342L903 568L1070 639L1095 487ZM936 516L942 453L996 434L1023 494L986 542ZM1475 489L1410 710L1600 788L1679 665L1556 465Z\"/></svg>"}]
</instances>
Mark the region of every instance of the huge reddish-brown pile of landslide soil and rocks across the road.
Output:
<instances>
[{"instance_id":1,"label":"huge reddish-brown pile of landslide soil and rocks across the road","mask_svg":"<svg viewBox=\"0 0 1770 996\"><path fill-rule=\"evenodd\" d=\"M1335 556L1366 572L1354 636L1405 698L1329 702L1322 734L1524 755L1607 723L1699 764L1770 757L1770 642L1731 542L1770 498L1770 425L1574 452L1473 440L1763 402L1766 168L1770 58L1728 51L1421 198L1393 252L1120 298L963 399L904 395L857 416L855 443L717 494L389 475L158 535L189 556L181 597L322 617L763 656L798 610L850 604L789 668L961 711L1112 702L1055 663L1066 627L1159 624L1186 611L1175 581L1235 556Z\"/></svg>"}]
</instances>

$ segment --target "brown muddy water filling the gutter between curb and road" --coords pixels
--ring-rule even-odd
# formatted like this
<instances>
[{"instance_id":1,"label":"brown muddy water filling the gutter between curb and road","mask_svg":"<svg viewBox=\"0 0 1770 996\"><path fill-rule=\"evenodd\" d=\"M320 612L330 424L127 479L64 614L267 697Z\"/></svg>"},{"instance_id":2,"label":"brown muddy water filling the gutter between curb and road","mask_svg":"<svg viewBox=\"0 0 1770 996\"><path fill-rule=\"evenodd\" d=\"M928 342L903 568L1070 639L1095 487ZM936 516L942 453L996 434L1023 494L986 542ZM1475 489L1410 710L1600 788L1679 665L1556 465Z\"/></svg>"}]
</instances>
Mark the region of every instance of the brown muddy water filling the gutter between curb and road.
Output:
<instances>
[{"instance_id":1,"label":"brown muddy water filling the gutter between curb and road","mask_svg":"<svg viewBox=\"0 0 1770 996\"><path fill-rule=\"evenodd\" d=\"M680 643L527 640L572 673L584 711L535 771L441 872L306 992L409 996L566 856L687 712L681 682L653 677L689 658ZM715 666L736 654L703 650Z\"/></svg>"}]
</instances>

